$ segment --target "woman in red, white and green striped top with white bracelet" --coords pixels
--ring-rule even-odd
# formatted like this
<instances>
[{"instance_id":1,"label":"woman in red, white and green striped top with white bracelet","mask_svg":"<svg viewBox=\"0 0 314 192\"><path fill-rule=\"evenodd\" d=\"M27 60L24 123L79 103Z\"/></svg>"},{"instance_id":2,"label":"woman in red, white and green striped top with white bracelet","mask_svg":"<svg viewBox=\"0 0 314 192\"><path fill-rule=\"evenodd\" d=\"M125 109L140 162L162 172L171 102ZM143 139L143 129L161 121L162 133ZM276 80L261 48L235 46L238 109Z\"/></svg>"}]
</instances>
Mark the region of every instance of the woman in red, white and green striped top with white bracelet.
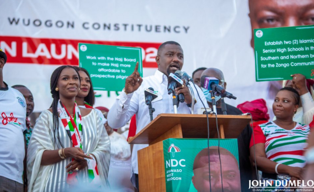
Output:
<instances>
[{"instance_id":1,"label":"woman in red, white and green striped top with white bracelet","mask_svg":"<svg viewBox=\"0 0 314 192\"><path fill-rule=\"evenodd\" d=\"M302 179L302 168L306 164L303 153L310 128L293 121L299 102L300 95L295 89L282 88L273 102L276 120L254 128L251 158L254 162L255 145L256 164L263 172L263 179Z\"/></svg>"}]
</instances>

